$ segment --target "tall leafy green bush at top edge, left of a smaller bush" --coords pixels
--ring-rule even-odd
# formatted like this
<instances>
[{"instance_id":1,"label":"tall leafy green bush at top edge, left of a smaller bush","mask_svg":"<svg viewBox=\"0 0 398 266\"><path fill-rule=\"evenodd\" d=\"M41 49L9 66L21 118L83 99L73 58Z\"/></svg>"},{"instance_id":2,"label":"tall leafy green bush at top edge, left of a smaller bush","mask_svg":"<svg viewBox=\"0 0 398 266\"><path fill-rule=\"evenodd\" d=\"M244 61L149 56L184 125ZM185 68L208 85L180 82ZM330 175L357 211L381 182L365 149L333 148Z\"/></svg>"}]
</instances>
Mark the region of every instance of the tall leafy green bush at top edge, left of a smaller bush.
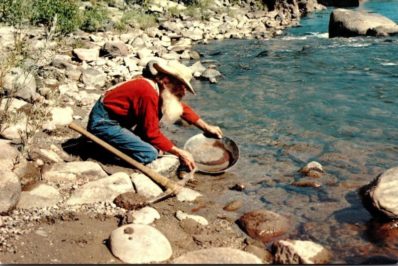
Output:
<instances>
[{"instance_id":1,"label":"tall leafy green bush at top edge, left of a smaller bush","mask_svg":"<svg viewBox=\"0 0 398 266\"><path fill-rule=\"evenodd\" d=\"M53 26L55 14L58 16L56 30L61 34L75 31L81 24L78 0L33 0L31 22L43 24L47 29Z\"/></svg>"}]
</instances>

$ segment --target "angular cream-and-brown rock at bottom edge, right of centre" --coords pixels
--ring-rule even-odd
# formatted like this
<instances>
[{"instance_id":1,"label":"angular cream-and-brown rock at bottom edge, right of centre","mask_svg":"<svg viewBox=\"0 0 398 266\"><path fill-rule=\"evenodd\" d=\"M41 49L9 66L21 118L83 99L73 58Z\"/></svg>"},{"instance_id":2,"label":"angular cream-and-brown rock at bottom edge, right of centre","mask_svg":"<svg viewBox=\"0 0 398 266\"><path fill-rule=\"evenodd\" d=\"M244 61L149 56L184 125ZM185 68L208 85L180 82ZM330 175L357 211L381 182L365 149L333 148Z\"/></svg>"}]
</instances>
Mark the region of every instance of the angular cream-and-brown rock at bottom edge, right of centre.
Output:
<instances>
[{"instance_id":1,"label":"angular cream-and-brown rock at bottom edge, right of centre","mask_svg":"<svg viewBox=\"0 0 398 266\"><path fill-rule=\"evenodd\" d=\"M329 260L327 250L311 241L280 240L273 243L272 251L275 264L325 264Z\"/></svg>"}]
</instances>

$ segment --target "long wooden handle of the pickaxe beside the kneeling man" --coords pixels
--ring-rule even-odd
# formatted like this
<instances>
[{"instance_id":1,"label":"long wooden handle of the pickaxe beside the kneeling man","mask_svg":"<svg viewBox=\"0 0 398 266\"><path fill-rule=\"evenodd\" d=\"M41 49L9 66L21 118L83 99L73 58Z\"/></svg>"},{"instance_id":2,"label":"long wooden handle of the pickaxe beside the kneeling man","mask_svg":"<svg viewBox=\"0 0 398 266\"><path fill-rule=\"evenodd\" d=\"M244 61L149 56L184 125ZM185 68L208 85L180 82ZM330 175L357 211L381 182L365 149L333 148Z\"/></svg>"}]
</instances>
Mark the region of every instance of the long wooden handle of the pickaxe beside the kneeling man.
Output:
<instances>
[{"instance_id":1,"label":"long wooden handle of the pickaxe beside the kneeling man","mask_svg":"<svg viewBox=\"0 0 398 266\"><path fill-rule=\"evenodd\" d=\"M93 140L97 144L100 144L100 146L102 146L106 150L112 152L114 155L116 155L120 159L122 159L122 160L126 161L127 163L131 164L132 166L134 166L135 168L137 168L138 170L143 172L145 175L149 176L153 181L155 181L156 183L158 183L161 186L163 186L165 189L169 189L169 190L175 192L175 194L178 194L178 192L180 192L182 187L179 184L177 184L173 180L171 180L171 179L169 179L167 177L164 177L163 175L155 172L151 168L149 168L149 167L137 162L136 160L134 160L130 156L126 155L125 153L121 152L120 150L116 149L115 147L111 146L110 144L106 143L105 141L103 141L102 139L100 139L97 136L93 135L92 133L84 130L83 128L77 126L74 123L69 124L69 128L74 130L74 131L76 131L76 132L78 132L78 133L81 133L82 135L84 135L84 136L86 136L88 138L90 138L91 140Z\"/></svg>"}]
</instances>

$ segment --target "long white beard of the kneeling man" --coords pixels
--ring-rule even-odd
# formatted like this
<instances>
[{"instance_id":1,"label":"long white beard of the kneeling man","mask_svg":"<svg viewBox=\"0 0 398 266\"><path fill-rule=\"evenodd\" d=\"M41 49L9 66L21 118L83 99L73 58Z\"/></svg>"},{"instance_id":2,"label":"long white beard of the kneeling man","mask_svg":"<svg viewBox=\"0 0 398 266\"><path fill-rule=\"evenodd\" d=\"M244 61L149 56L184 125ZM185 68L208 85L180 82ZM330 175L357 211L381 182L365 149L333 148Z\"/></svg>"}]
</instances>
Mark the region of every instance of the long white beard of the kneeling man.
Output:
<instances>
[{"instance_id":1,"label":"long white beard of the kneeling man","mask_svg":"<svg viewBox=\"0 0 398 266\"><path fill-rule=\"evenodd\" d=\"M164 88L160 94L162 98L162 122L171 125L180 119L183 114L183 106L178 98L170 92L168 88Z\"/></svg>"}]
</instances>

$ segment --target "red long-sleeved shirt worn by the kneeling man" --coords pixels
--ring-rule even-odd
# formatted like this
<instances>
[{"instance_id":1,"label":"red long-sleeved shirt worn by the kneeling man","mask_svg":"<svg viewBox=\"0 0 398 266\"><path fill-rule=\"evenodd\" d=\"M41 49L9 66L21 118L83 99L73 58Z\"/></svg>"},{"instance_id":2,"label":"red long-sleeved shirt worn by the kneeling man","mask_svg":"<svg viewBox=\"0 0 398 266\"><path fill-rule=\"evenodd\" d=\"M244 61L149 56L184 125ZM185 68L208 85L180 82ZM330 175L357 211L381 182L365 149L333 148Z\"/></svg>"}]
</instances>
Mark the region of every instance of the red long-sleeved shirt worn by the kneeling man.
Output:
<instances>
[{"instance_id":1,"label":"red long-sleeved shirt worn by the kneeling man","mask_svg":"<svg viewBox=\"0 0 398 266\"><path fill-rule=\"evenodd\" d=\"M173 143L159 129L159 120L162 117L159 96L146 79L132 79L107 91L103 104L109 115L122 127L130 129L137 125L134 132L155 148L168 151L173 147ZM188 105L181 104L181 118L190 124L197 122L198 114Z\"/></svg>"}]
</instances>

